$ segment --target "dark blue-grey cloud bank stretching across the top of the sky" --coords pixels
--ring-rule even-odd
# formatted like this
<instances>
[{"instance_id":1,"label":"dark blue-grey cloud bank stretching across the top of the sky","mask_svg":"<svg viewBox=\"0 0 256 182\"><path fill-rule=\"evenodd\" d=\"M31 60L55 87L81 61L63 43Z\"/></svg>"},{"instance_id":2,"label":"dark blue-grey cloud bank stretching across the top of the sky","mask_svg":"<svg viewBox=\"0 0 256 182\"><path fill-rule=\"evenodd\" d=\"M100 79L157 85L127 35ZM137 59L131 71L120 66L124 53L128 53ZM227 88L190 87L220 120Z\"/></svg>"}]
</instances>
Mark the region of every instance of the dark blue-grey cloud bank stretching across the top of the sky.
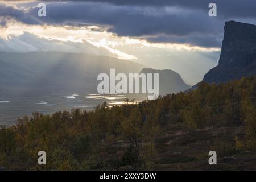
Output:
<instances>
[{"instance_id":1,"label":"dark blue-grey cloud bank stretching across the top of the sky","mask_svg":"<svg viewBox=\"0 0 256 182\"><path fill-rule=\"evenodd\" d=\"M210 2L217 3L216 18L208 16ZM46 18L37 16L38 7L26 12L0 4L0 16L27 24L96 24L110 27L109 31L119 36L220 47L225 20L230 17L255 19L255 7L255 0L94 0L50 3Z\"/></svg>"}]
</instances>

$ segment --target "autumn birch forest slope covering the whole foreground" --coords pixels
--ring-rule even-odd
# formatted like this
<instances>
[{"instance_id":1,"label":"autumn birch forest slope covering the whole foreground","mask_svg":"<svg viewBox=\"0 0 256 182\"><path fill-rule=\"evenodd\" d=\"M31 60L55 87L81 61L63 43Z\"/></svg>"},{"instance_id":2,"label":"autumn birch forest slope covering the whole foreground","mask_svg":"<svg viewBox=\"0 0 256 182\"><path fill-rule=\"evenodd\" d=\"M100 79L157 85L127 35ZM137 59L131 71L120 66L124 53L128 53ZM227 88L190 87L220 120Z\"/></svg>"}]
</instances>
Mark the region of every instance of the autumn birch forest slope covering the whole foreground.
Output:
<instances>
[{"instance_id":1,"label":"autumn birch forest slope covering the whole foreground","mask_svg":"<svg viewBox=\"0 0 256 182\"><path fill-rule=\"evenodd\" d=\"M32 113L0 129L5 170L256 169L256 76L137 105ZM208 164L217 152L218 165ZM45 151L47 164L38 164Z\"/></svg>"}]
</instances>

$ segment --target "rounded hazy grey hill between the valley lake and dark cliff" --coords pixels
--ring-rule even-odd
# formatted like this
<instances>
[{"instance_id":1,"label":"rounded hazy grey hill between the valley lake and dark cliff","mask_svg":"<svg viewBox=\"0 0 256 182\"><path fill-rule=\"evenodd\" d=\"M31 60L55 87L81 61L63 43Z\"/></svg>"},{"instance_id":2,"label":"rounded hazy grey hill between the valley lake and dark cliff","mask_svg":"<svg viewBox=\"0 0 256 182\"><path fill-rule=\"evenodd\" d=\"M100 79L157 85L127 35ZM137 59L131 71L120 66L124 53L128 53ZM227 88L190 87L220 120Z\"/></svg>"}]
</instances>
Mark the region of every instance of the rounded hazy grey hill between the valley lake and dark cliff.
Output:
<instances>
[{"instance_id":1,"label":"rounded hazy grey hill between the valley lake and dark cliff","mask_svg":"<svg viewBox=\"0 0 256 182\"><path fill-rule=\"evenodd\" d=\"M170 69L156 70L144 68L142 69L141 73L159 73L159 94L161 95L178 93L190 88L190 86L185 84L185 82L182 80L179 73L176 73Z\"/></svg>"}]
</instances>

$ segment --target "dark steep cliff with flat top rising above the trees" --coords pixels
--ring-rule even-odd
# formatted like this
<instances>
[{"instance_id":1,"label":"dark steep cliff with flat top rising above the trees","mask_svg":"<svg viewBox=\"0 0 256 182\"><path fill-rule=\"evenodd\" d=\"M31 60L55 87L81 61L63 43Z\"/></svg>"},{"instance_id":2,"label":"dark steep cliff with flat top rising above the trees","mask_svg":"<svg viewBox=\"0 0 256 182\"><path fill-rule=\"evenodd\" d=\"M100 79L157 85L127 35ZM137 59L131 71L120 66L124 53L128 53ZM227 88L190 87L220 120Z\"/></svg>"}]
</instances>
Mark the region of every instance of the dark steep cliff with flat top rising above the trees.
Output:
<instances>
[{"instance_id":1,"label":"dark steep cliff with flat top rising above the trees","mask_svg":"<svg viewBox=\"0 0 256 182\"><path fill-rule=\"evenodd\" d=\"M256 26L226 22L221 55L217 67L204 76L205 82L227 82L256 75Z\"/></svg>"}]
</instances>

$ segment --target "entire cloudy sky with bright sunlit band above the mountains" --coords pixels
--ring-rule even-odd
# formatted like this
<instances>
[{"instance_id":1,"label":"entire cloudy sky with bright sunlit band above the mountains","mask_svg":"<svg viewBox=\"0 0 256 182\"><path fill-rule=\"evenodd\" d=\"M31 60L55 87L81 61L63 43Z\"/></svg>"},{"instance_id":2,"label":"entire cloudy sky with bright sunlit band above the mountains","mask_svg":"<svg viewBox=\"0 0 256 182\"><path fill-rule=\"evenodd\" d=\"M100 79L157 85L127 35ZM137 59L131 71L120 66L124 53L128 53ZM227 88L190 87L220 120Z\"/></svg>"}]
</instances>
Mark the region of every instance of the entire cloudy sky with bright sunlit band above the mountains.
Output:
<instances>
[{"instance_id":1,"label":"entire cloudy sky with bright sunlit band above the mountains","mask_svg":"<svg viewBox=\"0 0 256 182\"><path fill-rule=\"evenodd\" d=\"M255 0L0 0L0 51L118 57L172 69L193 85L218 64L225 22L256 24L255 10Z\"/></svg>"}]
</instances>

